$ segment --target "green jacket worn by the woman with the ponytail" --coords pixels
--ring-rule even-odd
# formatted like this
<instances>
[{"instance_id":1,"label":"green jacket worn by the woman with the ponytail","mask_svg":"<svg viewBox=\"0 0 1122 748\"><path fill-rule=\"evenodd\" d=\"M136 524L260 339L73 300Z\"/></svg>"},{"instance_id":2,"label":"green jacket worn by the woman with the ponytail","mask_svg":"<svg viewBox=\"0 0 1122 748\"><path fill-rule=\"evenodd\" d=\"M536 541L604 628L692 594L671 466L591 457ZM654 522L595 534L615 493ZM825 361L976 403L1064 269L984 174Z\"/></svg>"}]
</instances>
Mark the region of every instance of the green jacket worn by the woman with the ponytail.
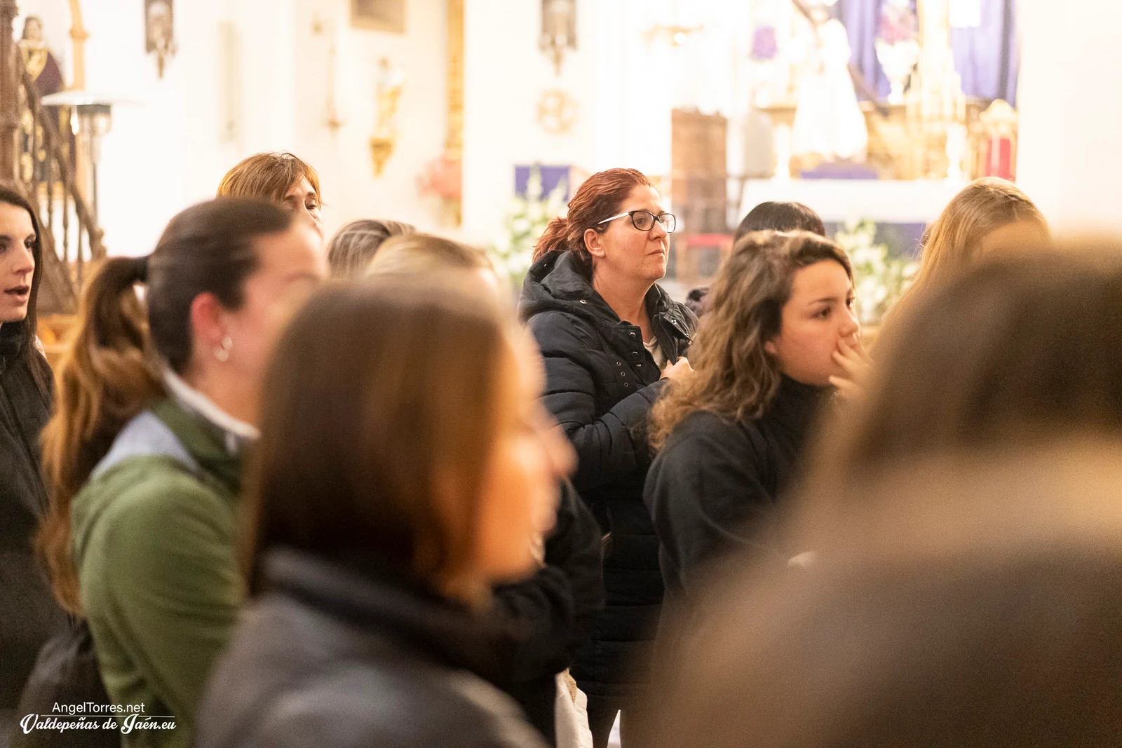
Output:
<instances>
[{"instance_id":1,"label":"green jacket worn by the woman with the ponytail","mask_svg":"<svg viewBox=\"0 0 1122 748\"><path fill-rule=\"evenodd\" d=\"M125 450L71 507L82 607L105 690L114 703L175 718L174 730L125 735L125 748L191 745L211 665L245 600L234 551L239 456L219 428L175 400L150 413L196 464ZM141 444L153 441L146 436Z\"/></svg>"}]
</instances>

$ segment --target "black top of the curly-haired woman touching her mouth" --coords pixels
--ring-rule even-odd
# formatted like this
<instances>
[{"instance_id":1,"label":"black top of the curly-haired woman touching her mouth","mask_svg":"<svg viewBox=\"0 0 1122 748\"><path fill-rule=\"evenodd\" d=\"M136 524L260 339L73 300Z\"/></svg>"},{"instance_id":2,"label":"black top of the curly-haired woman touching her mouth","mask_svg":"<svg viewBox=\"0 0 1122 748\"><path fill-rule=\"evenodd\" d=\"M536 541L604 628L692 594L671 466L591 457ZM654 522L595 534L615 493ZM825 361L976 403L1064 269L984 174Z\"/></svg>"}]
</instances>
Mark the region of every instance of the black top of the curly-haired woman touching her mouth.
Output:
<instances>
[{"instance_id":1,"label":"black top of the curly-haired woman touching her mouth","mask_svg":"<svg viewBox=\"0 0 1122 748\"><path fill-rule=\"evenodd\" d=\"M709 567L729 554L737 553L737 563L745 555L785 563L776 498L831 389L783 377L760 418L734 423L698 410L670 434L644 490L659 533L668 619L690 615Z\"/></svg>"}]
</instances>

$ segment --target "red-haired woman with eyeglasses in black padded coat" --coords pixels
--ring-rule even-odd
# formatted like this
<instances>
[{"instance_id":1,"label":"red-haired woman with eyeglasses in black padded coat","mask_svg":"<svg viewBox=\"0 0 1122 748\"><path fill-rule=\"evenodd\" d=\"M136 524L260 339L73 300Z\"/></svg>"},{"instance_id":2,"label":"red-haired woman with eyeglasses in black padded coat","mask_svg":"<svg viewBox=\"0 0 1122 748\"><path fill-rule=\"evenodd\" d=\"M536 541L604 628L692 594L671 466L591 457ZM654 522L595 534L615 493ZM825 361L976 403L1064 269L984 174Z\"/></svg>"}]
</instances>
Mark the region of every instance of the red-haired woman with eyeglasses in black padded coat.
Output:
<instances>
[{"instance_id":1,"label":"red-haired woman with eyeglasses in black padded coat","mask_svg":"<svg viewBox=\"0 0 1122 748\"><path fill-rule=\"evenodd\" d=\"M662 603L659 541L643 504L646 421L663 380L690 371L697 318L656 281L674 216L635 169L589 177L534 249L518 312L545 359L545 406L577 450L573 482L600 523L606 608L576 653L597 748L617 712L635 732Z\"/></svg>"}]
</instances>

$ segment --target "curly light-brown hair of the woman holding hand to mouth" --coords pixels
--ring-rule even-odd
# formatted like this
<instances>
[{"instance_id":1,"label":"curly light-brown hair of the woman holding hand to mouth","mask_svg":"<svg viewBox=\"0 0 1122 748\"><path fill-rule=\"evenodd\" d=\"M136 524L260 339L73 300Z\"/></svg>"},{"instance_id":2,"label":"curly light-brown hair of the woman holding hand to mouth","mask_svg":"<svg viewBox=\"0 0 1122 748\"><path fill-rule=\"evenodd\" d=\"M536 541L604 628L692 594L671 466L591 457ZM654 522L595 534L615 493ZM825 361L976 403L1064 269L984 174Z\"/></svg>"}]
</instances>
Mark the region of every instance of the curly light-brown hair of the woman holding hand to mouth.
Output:
<instances>
[{"instance_id":1,"label":"curly light-brown hair of the woman holding hand to mouth","mask_svg":"<svg viewBox=\"0 0 1122 748\"><path fill-rule=\"evenodd\" d=\"M779 334L795 271L825 260L844 267L853 280L845 250L809 231L753 231L736 242L690 349L693 373L668 382L651 412L654 449L695 410L729 421L763 415L781 381L779 361L764 347Z\"/></svg>"}]
</instances>

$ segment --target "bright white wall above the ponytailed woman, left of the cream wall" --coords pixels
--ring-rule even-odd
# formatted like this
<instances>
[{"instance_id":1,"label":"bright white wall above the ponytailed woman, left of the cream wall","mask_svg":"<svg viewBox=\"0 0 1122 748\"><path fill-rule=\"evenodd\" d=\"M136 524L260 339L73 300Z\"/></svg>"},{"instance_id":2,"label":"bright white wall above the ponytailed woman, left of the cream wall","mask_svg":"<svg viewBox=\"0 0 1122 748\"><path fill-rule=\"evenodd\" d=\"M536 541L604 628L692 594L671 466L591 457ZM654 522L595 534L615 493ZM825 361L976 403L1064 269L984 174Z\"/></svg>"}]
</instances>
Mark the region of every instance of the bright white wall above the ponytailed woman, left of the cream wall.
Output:
<instances>
[{"instance_id":1,"label":"bright white wall above the ponytailed woman, left of the cream wall","mask_svg":"<svg viewBox=\"0 0 1122 748\"><path fill-rule=\"evenodd\" d=\"M83 1L86 89L118 102L99 175L111 253L151 251L168 219L212 197L243 155L294 147L293 2L176 3L178 50L160 79L144 50L140 7L127 13L114 0ZM237 29L239 79L223 64L221 25ZM224 105L228 86L239 92L232 109ZM227 127L231 116L237 138Z\"/></svg>"}]
</instances>

